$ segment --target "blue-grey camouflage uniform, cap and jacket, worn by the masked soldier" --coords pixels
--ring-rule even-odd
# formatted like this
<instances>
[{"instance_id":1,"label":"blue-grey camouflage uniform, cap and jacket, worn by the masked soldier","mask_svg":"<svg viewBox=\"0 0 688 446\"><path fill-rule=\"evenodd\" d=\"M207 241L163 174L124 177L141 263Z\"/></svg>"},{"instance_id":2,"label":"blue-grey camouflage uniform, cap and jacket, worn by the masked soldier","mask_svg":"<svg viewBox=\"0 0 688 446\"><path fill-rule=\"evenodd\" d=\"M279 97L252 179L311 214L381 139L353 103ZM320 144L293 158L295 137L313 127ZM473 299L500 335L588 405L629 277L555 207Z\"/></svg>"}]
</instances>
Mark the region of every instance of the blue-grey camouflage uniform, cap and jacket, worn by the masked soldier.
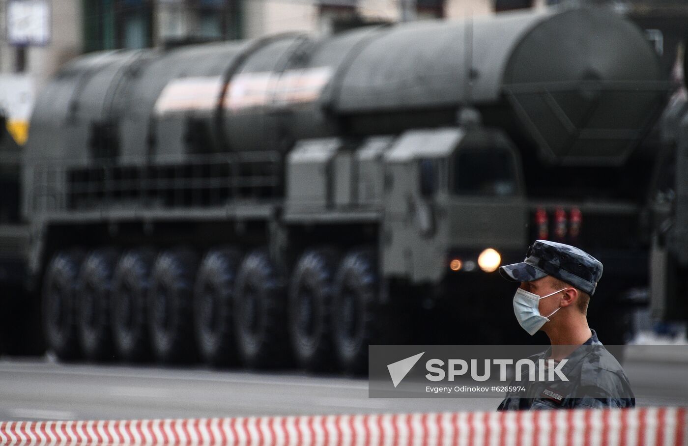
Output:
<instances>
[{"instance_id":1,"label":"blue-grey camouflage uniform, cap and jacket, worn by the masked soldier","mask_svg":"<svg viewBox=\"0 0 688 446\"><path fill-rule=\"evenodd\" d=\"M602 276L602 263L577 247L538 240L528 248L521 263L505 265L499 273L507 280L530 282L545 276L563 280L592 296ZM547 359L551 349L538 355ZM498 410L555 408L629 408L636 405L630 383L616 358L592 336L574 350L561 370L569 381L512 381L512 386L525 386L523 392L506 395Z\"/></svg>"}]
</instances>

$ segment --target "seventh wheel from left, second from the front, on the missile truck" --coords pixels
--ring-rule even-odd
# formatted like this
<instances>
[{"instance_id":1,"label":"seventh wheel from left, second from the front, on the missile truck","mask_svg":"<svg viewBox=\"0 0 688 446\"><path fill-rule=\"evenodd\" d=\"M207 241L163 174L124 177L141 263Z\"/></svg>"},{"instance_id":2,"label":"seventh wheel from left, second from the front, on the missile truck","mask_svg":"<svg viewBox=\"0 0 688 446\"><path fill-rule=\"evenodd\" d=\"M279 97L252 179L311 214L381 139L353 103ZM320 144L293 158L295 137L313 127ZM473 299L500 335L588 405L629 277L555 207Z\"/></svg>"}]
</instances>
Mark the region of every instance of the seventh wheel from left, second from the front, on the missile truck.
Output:
<instances>
[{"instance_id":1,"label":"seventh wheel from left, second from the front, on the missile truck","mask_svg":"<svg viewBox=\"0 0 688 446\"><path fill-rule=\"evenodd\" d=\"M316 249L303 253L289 287L289 332L299 366L319 371L332 359L330 306L337 253Z\"/></svg>"}]
</instances>

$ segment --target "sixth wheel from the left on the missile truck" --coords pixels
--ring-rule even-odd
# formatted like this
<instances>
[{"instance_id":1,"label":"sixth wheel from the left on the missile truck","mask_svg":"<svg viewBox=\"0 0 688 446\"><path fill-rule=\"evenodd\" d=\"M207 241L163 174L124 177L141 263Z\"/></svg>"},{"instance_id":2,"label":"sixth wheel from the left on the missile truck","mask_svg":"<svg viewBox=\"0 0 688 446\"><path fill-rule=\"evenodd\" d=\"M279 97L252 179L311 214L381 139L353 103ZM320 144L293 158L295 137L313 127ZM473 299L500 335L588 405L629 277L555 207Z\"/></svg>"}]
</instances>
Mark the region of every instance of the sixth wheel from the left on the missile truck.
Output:
<instances>
[{"instance_id":1,"label":"sixth wheel from the left on the missile truck","mask_svg":"<svg viewBox=\"0 0 688 446\"><path fill-rule=\"evenodd\" d=\"M237 350L249 368L274 368L289 357L286 298L268 252L257 249L241 262L234 293Z\"/></svg>"}]
</instances>

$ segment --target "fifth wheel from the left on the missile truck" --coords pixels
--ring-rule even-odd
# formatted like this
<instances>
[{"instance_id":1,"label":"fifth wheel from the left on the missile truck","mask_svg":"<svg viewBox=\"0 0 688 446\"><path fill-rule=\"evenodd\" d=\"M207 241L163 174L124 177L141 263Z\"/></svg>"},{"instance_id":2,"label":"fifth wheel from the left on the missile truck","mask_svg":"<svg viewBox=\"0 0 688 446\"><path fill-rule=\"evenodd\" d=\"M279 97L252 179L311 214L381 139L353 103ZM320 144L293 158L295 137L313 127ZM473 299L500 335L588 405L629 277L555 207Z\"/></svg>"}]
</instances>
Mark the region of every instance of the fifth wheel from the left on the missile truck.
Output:
<instances>
[{"instance_id":1,"label":"fifth wheel from the left on the missile truck","mask_svg":"<svg viewBox=\"0 0 688 446\"><path fill-rule=\"evenodd\" d=\"M203 258L193 292L194 328L201 359L213 366L237 363L233 296L241 254L211 249Z\"/></svg>"}]
</instances>

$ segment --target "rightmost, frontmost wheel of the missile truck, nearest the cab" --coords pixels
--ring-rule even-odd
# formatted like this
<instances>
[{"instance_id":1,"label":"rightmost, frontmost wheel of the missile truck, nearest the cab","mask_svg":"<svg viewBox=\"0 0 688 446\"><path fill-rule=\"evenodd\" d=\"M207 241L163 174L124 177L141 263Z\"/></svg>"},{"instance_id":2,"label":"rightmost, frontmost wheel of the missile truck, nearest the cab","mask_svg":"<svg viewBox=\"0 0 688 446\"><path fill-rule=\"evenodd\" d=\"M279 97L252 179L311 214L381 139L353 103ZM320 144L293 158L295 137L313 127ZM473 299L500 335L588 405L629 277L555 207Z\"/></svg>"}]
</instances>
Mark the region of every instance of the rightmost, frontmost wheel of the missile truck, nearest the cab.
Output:
<instances>
[{"instance_id":1,"label":"rightmost, frontmost wheel of the missile truck, nearest the cab","mask_svg":"<svg viewBox=\"0 0 688 446\"><path fill-rule=\"evenodd\" d=\"M332 300L334 351L347 373L368 364L368 344L378 313L378 274L372 250L347 254L337 271Z\"/></svg>"}]
</instances>

